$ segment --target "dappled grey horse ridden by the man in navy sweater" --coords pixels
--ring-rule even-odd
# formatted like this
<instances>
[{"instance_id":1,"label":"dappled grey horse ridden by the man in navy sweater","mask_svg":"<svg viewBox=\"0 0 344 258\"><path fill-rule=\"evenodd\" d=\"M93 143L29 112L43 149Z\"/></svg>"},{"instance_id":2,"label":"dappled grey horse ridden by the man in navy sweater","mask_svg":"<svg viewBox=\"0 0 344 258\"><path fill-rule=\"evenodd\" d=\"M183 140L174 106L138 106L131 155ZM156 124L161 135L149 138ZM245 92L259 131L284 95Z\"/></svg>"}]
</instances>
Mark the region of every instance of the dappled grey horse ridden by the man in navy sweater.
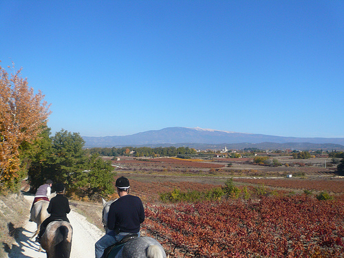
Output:
<instances>
[{"instance_id":1,"label":"dappled grey horse ridden by the man in navy sweater","mask_svg":"<svg viewBox=\"0 0 344 258\"><path fill-rule=\"evenodd\" d=\"M107 215L110 205L116 200L106 202L103 198L103 226L107 228ZM133 234L136 235L136 234ZM166 258L166 253L161 244L152 237L137 237L128 235L122 241L110 246L105 250L105 258Z\"/></svg>"}]
</instances>

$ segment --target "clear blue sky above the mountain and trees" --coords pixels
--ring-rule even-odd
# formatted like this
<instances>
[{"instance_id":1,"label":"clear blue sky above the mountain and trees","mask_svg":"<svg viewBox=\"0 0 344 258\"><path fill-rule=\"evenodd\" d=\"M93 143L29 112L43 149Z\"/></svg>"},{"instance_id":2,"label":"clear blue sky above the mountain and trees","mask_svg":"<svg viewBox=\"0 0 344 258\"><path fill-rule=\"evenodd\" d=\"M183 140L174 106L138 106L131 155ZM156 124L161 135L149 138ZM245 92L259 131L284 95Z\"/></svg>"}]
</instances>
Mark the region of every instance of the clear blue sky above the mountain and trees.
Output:
<instances>
[{"instance_id":1,"label":"clear blue sky above the mountain and trees","mask_svg":"<svg viewBox=\"0 0 344 258\"><path fill-rule=\"evenodd\" d=\"M81 136L344 137L344 1L0 1L0 60Z\"/></svg>"}]
</instances>

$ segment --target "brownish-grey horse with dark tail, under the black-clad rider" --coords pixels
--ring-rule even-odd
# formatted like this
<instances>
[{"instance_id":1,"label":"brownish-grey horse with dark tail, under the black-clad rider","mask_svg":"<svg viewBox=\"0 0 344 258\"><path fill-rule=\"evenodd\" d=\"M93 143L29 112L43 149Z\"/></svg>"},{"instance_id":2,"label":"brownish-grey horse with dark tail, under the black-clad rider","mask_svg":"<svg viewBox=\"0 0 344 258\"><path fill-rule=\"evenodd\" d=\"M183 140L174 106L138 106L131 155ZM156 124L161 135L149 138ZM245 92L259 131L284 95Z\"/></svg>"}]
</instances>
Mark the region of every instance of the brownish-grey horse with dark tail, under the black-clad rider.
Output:
<instances>
[{"instance_id":1,"label":"brownish-grey horse with dark tail, under the black-clad rider","mask_svg":"<svg viewBox=\"0 0 344 258\"><path fill-rule=\"evenodd\" d=\"M69 222L55 220L47 224L41 237L41 246L47 258L69 258L72 250L73 228Z\"/></svg>"}]
</instances>

